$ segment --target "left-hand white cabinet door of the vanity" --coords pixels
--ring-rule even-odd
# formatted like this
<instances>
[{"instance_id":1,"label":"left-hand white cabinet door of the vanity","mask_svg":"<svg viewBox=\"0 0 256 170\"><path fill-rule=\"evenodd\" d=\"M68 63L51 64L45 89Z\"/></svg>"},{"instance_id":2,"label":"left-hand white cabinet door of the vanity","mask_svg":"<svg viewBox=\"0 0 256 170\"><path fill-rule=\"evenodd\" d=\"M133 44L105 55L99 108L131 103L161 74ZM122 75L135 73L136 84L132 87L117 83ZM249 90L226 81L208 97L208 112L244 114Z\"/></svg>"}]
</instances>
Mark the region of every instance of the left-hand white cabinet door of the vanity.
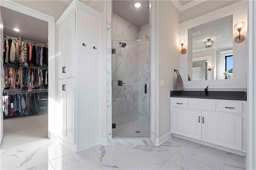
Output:
<instances>
[{"instance_id":1,"label":"left-hand white cabinet door of the vanity","mask_svg":"<svg viewBox=\"0 0 256 170\"><path fill-rule=\"evenodd\" d=\"M173 108L172 133L201 140L201 111Z\"/></svg>"}]
</instances>

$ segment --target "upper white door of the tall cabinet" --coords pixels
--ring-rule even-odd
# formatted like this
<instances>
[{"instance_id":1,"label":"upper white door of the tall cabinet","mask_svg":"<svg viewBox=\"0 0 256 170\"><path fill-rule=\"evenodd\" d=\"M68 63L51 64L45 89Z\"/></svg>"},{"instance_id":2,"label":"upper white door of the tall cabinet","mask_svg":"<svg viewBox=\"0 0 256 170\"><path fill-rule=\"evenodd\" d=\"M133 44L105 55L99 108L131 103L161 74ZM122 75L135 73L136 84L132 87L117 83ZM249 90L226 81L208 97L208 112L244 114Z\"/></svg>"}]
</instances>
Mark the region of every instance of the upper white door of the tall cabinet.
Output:
<instances>
[{"instance_id":1,"label":"upper white door of the tall cabinet","mask_svg":"<svg viewBox=\"0 0 256 170\"><path fill-rule=\"evenodd\" d=\"M70 12L58 26L58 75L59 79L76 75L76 15Z\"/></svg>"}]
</instances>

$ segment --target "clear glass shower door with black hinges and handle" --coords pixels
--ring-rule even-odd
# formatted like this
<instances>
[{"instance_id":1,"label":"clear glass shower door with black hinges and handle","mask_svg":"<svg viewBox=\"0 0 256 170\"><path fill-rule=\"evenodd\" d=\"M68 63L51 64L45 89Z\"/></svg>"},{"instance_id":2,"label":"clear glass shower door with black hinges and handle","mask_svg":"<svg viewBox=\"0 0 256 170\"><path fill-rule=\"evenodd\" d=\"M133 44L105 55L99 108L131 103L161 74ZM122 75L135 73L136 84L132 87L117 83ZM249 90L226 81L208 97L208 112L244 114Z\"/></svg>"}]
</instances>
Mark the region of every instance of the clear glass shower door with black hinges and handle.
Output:
<instances>
[{"instance_id":1,"label":"clear glass shower door with black hinges and handle","mask_svg":"<svg viewBox=\"0 0 256 170\"><path fill-rule=\"evenodd\" d=\"M150 137L150 43L112 41L112 136Z\"/></svg>"}]
</instances>

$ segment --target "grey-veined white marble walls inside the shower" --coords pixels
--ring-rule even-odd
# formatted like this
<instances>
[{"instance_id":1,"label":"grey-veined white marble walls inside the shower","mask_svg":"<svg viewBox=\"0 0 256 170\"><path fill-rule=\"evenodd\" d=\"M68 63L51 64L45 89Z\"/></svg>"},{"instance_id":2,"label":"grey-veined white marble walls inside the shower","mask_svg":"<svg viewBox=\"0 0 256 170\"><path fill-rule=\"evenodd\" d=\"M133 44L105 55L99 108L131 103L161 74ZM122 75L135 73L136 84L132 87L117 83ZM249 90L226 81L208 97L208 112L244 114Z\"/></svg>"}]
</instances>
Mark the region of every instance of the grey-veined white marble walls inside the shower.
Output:
<instances>
[{"instance_id":1,"label":"grey-veined white marble walls inside the shower","mask_svg":"<svg viewBox=\"0 0 256 170\"><path fill-rule=\"evenodd\" d=\"M149 68L150 26L139 28L112 13L112 123L122 125L130 121L150 121L149 113ZM147 40L134 41L134 40ZM126 43L120 47L119 42ZM118 86L118 80L125 84ZM148 93L144 93L147 84Z\"/></svg>"}]
</instances>

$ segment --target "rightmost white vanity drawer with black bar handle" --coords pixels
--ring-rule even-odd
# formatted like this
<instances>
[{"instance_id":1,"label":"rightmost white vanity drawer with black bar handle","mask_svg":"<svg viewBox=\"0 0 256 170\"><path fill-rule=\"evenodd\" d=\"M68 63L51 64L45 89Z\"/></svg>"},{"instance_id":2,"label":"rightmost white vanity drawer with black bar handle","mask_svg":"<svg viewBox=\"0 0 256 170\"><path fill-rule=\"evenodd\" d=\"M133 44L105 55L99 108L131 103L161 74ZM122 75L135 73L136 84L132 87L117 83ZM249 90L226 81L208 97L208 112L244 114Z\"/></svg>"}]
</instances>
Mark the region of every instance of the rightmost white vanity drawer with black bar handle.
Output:
<instances>
[{"instance_id":1,"label":"rightmost white vanity drawer with black bar handle","mask_svg":"<svg viewBox=\"0 0 256 170\"><path fill-rule=\"evenodd\" d=\"M217 102L217 111L229 113L243 113L242 103Z\"/></svg>"}]
</instances>

